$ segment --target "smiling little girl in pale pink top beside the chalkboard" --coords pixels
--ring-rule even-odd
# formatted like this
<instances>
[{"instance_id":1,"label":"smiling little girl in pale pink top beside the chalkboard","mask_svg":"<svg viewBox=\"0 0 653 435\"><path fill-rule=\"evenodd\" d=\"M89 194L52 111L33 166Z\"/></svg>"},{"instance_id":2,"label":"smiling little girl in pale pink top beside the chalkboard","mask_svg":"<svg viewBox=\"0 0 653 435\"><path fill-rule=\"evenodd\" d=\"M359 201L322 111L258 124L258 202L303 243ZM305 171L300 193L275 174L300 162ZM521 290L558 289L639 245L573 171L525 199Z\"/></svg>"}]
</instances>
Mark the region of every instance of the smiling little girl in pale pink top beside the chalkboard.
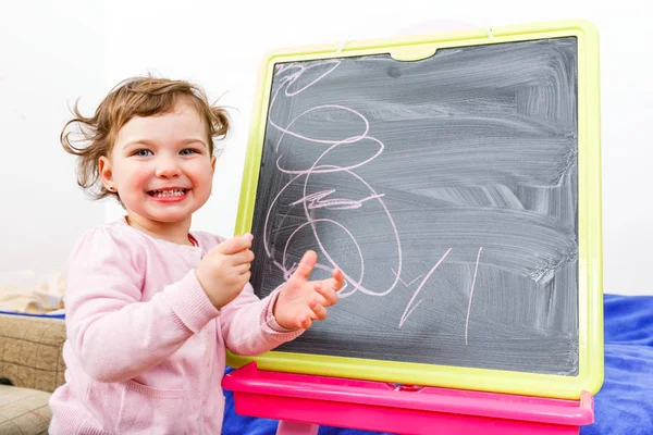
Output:
<instances>
[{"instance_id":1,"label":"smiling little girl in pale pink top beside the chalkboard","mask_svg":"<svg viewBox=\"0 0 653 435\"><path fill-rule=\"evenodd\" d=\"M93 117L74 114L61 142L79 158L79 185L126 215L71 253L65 384L50 400L50 434L220 434L225 347L252 356L294 339L326 318L343 274L308 281L308 251L260 300L248 283L251 235L189 232L211 194L213 138L229 129L197 86L135 77ZM83 147L70 140L74 124Z\"/></svg>"}]
</instances>

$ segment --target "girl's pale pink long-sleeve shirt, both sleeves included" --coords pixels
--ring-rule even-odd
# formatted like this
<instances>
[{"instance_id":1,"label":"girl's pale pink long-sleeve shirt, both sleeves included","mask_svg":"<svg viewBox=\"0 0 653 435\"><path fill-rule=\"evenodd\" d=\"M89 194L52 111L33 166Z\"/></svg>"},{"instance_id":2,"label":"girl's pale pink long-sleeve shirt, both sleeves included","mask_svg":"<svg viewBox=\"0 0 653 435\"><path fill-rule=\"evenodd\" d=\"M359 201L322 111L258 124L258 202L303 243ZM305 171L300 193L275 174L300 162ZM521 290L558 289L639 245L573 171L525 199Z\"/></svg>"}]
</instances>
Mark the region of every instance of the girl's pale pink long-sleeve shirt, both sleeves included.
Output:
<instances>
[{"instance_id":1,"label":"girl's pale pink long-sleeve shirt, both sleeves included","mask_svg":"<svg viewBox=\"0 0 653 435\"><path fill-rule=\"evenodd\" d=\"M65 384L50 399L51 435L220 434L225 347L258 355L304 330L281 327L249 284L217 310L195 276L221 241L150 237L124 220L77 243L66 271Z\"/></svg>"}]
</instances>

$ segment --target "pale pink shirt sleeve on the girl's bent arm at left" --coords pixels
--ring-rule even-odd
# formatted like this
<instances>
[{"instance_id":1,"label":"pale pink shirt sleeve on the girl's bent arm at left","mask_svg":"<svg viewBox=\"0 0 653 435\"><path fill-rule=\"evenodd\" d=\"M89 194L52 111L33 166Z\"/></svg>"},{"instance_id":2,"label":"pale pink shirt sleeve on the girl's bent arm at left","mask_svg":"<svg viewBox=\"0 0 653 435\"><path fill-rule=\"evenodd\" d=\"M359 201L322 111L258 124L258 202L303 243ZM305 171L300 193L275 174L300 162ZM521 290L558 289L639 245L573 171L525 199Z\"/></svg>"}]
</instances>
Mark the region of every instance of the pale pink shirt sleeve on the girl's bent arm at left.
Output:
<instances>
[{"instance_id":1,"label":"pale pink shirt sleeve on the girl's bent arm at left","mask_svg":"<svg viewBox=\"0 0 653 435\"><path fill-rule=\"evenodd\" d=\"M219 315L195 270L143 301L144 263L143 252L102 227L87 233L71 253L67 338L96 381L126 381L159 364Z\"/></svg>"}]
</instances>

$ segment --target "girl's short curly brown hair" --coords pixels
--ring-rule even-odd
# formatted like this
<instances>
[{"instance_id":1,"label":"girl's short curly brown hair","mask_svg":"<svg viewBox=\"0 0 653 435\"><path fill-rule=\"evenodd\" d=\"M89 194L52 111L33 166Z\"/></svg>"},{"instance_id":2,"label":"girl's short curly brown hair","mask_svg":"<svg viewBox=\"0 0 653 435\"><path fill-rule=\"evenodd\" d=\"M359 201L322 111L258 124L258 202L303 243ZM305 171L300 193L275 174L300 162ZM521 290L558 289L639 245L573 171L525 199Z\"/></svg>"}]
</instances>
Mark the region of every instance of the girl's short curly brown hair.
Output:
<instances>
[{"instance_id":1,"label":"girl's short curly brown hair","mask_svg":"<svg viewBox=\"0 0 653 435\"><path fill-rule=\"evenodd\" d=\"M209 153L215 153L213 138L222 139L230 128L229 113L222 107L209 103L206 92L187 80L135 76L119 83L104 97L91 117L79 113L78 100L72 112L75 117L63 127L61 145L69 153L78 157L77 184L95 199L118 194L107 190L100 183L98 160L109 157L118 132L134 116L152 116L170 113L177 101L189 102L207 126ZM82 146L73 145L70 128L78 125ZM77 142L77 140L75 140Z\"/></svg>"}]
</instances>

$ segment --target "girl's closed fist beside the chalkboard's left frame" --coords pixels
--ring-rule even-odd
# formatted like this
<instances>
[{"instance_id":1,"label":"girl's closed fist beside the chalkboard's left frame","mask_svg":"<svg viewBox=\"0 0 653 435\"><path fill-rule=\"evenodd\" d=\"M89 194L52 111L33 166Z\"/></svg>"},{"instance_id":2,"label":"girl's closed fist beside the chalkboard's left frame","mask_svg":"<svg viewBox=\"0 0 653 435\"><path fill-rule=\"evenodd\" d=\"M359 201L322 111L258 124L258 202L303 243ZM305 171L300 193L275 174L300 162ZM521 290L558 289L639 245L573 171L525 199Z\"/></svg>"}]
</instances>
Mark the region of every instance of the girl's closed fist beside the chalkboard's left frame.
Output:
<instances>
[{"instance_id":1,"label":"girl's closed fist beside the chalkboard's left frame","mask_svg":"<svg viewBox=\"0 0 653 435\"><path fill-rule=\"evenodd\" d=\"M252 238L246 234L224 240L211 249L195 270L197 281L218 310L234 300L249 282Z\"/></svg>"}]
</instances>

